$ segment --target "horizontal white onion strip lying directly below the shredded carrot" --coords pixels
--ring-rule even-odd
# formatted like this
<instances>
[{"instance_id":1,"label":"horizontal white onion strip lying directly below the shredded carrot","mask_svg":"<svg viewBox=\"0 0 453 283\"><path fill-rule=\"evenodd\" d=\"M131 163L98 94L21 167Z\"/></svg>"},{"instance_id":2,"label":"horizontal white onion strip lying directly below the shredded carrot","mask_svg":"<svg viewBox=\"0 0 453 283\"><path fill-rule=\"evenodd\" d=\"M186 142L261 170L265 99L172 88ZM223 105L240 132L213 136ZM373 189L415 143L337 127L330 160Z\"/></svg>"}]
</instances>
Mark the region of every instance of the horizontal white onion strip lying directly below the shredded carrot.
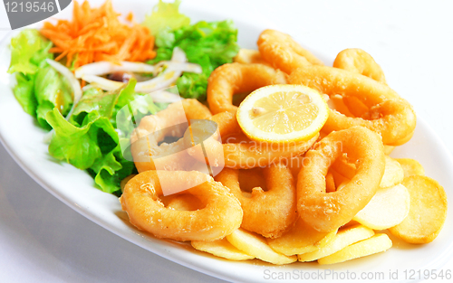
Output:
<instances>
[{"instance_id":1,"label":"horizontal white onion strip lying directly below the shredded carrot","mask_svg":"<svg viewBox=\"0 0 453 283\"><path fill-rule=\"evenodd\" d=\"M77 68L74 74L77 79L81 79L84 75L101 76L115 71L154 73L156 69L153 65L136 61L120 61L120 65L110 61L97 61Z\"/></svg>"}]
</instances>

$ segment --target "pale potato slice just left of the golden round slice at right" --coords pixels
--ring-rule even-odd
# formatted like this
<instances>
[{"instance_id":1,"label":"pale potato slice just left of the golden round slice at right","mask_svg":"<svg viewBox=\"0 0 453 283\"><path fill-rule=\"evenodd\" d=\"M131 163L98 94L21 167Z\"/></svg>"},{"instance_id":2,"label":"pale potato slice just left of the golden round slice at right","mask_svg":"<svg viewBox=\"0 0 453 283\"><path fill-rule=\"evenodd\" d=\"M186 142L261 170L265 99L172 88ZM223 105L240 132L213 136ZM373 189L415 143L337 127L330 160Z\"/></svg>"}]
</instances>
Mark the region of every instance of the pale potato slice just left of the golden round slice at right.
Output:
<instances>
[{"instance_id":1,"label":"pale potato slice just left of the golden round slice at right","mask_svg":"<svg viewBox=\"0 0 453 283\"><path fill-rule=\"evenodd\" d=\"M384 230L400 224L410 210L410 194L402 184L379 189L353 220L374 230Z\"/></svg>"}]
</instances>

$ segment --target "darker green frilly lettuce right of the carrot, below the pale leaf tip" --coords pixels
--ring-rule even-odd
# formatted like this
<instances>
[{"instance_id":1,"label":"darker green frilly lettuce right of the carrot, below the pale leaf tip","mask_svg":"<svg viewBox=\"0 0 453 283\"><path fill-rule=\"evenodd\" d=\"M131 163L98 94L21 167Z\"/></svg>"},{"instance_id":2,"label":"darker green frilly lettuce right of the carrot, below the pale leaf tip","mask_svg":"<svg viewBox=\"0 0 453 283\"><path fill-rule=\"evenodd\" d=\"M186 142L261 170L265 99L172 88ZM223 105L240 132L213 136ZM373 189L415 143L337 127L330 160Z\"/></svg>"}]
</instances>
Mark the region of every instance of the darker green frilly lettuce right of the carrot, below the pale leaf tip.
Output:
<instances>
[{"instance_id":1,"label":"darker green frilly lettuce right of the carrot, below the pale leaf tip","mask_svg":"<svg viewBox=\"0 0 453 283\"><path fill-rule=\"evenodd\" d=\"M169 33L173 36L169 36ZM171 59L173 48L182 48L188 61L203 69L201 74L185 72L177 80L179 94L184 98L206 99L207 79L218 66L230 63L239 51L237 29L232 21L207 23L204 21L178 30L164 31L156 37L157 56L149 63Z\"/></svg>"}]
</instances>

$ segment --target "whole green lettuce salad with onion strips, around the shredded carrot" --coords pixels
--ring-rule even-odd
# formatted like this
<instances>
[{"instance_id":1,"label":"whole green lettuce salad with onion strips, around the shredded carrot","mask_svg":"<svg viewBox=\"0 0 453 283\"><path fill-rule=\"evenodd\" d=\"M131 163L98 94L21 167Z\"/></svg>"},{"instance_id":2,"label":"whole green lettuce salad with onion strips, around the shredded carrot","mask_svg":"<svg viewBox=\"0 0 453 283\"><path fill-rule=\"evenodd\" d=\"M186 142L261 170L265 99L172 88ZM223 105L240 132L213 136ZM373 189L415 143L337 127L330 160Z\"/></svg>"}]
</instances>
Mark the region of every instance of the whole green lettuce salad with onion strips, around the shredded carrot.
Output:
<instances>
[{"instance_id":1,"label":"whole green lettuce salad with onion strips, around the shredded carrot","mask_svg":"<svg viewBox=\"0 0 453 283\"><path fill-rule=\"evenodd\" d=\"M174 3L159 0L145 17L141 25L155 38L156 56L141 64L146 63L154 71L128 80L111 80L111 74L102 73L100 70L105 66L116 68L108 62L74 68L74 58L55 52L56 43L39 30L23 30L11 40L8 72L14 74L17 81L14 96L24 111L36 118L37 125L49 132L49 154L86 170L106 193L120 195L120 181L137 173L130 158L125 158L121 152L120 140L127 137L124 132L130 133L133 128L117 125L117 121L122 120L117 118L120 109L131 101L138 103L133 113L137 123L137 119L154 114L171 102L151 99L144 80L163 81L161 85L167 87L176 85L181 97L203 101L210 73L232 62L239 50L233 22L190 24L188 16L179 12L179 4L178 0ZM163 78L178 56L174 52L177 49L182 50L192 65L184 65L188 69L178 70L178 78L169 83ZM55 59L67 67L53 61ZM131 70L136 68L134 64L137 62L131 64ZM79 73L82 77L77 77Z\"/></svg>"}]
</instances>

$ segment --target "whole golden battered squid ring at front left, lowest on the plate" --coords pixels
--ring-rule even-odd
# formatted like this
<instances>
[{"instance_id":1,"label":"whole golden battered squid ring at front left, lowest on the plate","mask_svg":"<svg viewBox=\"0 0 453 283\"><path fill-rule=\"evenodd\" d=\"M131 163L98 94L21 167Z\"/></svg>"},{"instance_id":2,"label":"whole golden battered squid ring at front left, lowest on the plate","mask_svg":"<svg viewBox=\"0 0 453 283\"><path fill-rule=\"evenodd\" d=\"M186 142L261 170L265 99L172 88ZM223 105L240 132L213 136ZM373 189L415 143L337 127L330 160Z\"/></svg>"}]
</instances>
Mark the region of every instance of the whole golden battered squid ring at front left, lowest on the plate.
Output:
<instances>
[{"instance_id":1,"label":"whole golden battered squid ring at front left, lowest on the plate","mask_svg":"<svg viewBox=\"0 0 453 283\"><path fill-rule=\"evenodd\" d=\"M165 207L159 200L161 182L175 188L188 182L198 184L184 193L193 194L206 206L197 211ZM242 222L241 203L228 191L203 173L150 170L130 179L120 202L122 210L129 215L130 223L158 238L215 241L238 229Z\"/></svg>"}]
</instances>

